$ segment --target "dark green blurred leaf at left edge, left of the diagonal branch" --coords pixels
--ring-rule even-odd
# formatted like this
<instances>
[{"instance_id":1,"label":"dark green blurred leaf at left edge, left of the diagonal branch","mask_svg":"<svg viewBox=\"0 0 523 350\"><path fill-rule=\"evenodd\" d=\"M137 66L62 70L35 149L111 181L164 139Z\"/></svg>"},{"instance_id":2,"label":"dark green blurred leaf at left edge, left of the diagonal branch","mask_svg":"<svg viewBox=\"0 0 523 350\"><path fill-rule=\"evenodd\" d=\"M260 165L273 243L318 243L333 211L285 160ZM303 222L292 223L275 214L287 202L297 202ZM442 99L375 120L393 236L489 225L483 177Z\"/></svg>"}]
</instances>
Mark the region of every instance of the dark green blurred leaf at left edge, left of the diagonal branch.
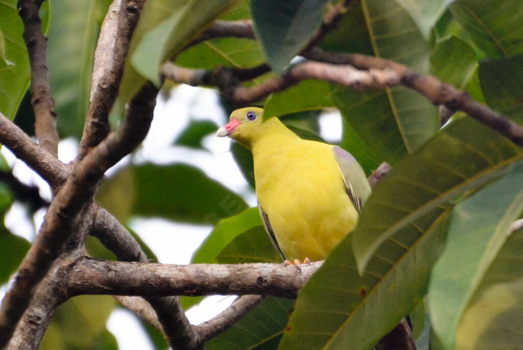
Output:
<instances>
[{"instance_id":1,"label":"dark green blurred leaf at left edge, left of the diagonal branch","mask_svg":"<svg viewBox=\"0 0 523 350\"><path fill-rule=\"evenodd\" d=\"M0 225L0 285L16 271L30 246L24 238L11 234L3 223Z\"/></svg>"}]
</instances>

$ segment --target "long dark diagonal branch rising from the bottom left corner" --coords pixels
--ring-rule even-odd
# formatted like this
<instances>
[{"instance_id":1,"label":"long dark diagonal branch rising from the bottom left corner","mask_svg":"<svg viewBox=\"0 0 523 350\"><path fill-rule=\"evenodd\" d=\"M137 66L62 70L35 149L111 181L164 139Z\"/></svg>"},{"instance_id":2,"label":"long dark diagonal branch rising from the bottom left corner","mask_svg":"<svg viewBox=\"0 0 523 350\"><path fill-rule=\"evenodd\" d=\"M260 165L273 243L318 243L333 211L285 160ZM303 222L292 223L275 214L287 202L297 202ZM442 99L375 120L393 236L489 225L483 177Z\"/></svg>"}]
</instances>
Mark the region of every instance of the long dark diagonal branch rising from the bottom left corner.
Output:
<instances>
[{"instance_id":1,"label":"long dark diagonal branch rising from the bottom left corner","mask_svg":"<svg viewBox=\"0 0 523 350\"><path fill-rule=\"evenodd\" d=\"M35 242L20 265L12 288L2 300L0 347L13 334L34 294L35 286L78 227L104 172L137 147L145 137L152 120L156 95L157 89L152 84L145 85L131 101L119 134L110 134L81 162L76 163L56 194Z\"/></svg>"}]
</instances>

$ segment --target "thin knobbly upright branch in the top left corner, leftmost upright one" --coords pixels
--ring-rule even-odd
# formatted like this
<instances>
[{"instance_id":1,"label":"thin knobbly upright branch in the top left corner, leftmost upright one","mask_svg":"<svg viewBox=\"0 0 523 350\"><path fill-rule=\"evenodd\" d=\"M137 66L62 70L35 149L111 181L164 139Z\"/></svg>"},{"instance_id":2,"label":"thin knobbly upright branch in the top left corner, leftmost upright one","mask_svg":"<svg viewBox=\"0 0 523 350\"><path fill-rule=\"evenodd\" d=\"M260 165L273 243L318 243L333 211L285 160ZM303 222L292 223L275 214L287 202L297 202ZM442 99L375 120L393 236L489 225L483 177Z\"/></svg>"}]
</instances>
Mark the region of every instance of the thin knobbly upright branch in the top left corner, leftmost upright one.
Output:
<instances>
[{"instance_id":1,"label":"thin knobbly upright branch in the top left corner, leftmost upright one","mask_svg":"<svg viewBox=\"0 0 523 350\"><path fill-rule=\"evenodd\" d=\"M31 104L35 110L35 134L42 148L58 157L58 132L56 132L56 113L54 100L49 92L49 72L47 68L47 39L43 36L42 21L38 11L43 0L19 0L18 14L24 22L24 41L26 42L31 66Z\"/></svg>"}]
</instances>

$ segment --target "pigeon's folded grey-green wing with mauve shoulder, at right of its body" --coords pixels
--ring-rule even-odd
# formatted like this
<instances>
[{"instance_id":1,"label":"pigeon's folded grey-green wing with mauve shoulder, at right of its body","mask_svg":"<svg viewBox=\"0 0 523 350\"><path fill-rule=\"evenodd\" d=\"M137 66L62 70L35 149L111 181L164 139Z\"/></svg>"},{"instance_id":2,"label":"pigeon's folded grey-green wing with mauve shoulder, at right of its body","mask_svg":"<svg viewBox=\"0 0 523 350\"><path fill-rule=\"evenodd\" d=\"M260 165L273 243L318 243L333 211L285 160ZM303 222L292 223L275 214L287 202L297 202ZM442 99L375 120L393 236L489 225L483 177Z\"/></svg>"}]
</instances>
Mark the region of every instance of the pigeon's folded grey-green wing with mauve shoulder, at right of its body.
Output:
<instances>
[{"instance_id":1,"label":"pigeon's folded grey-green wing with mauve shoulder, at right of its body","mask_svg":"<svg viewBox=\"0 0 523 350\"><path fill-rule=\"evenodd\" d=\"M343 182L345 183L347 194L359 213L371 193L365 172L356 158L345 149L334 146L333 151L338 163L338 169L342 174Z\"/></svg>"}]
</instances>

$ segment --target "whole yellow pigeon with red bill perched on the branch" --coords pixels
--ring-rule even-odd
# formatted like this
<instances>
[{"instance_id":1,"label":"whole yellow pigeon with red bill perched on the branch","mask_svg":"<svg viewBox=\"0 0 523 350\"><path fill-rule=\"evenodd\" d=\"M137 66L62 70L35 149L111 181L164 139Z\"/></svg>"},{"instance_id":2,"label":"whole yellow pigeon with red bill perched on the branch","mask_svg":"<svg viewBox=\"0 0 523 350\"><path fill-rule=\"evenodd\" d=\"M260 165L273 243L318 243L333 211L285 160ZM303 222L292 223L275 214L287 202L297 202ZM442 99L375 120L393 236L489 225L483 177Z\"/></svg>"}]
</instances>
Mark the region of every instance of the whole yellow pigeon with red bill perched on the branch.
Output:
<instances>
[{"instance_id":1,"label":"whole yellow pigeon with red bill perched on the branch","mask_svg":"<svg viewBox=\"0 0 523 350\"><path fill-rule=\"evenodd\" d=\"M282 258L324 260L356 227L371 192L365 173L344 149L304 140L263 113L235 110L217 135L251 150L260 216Z\"/></svg>"}]
</instances>

